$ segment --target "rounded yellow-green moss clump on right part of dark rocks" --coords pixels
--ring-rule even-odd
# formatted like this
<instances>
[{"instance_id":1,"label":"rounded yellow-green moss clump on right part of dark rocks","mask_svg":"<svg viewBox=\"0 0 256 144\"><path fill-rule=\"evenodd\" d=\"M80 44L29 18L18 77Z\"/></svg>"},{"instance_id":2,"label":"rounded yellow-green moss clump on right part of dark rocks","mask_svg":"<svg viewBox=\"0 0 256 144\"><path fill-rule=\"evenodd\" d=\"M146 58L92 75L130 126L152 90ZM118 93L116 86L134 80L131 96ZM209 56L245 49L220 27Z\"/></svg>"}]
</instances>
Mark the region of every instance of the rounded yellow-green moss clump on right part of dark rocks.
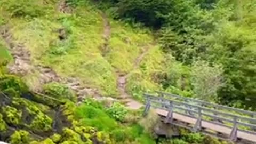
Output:
<instances>
[{"instance_id":1,"label":"rounded yellow-green moss clump on right part of dark rocks","mask_svg":"<svg viewBox=\"0 0 256 144\"><path fill-rule=\"evenodd\" d=\"M49 131L52 129L52 119L43 113L39 113L30 124L30 127L37 131Z\"/></svg>"}]
</instances>

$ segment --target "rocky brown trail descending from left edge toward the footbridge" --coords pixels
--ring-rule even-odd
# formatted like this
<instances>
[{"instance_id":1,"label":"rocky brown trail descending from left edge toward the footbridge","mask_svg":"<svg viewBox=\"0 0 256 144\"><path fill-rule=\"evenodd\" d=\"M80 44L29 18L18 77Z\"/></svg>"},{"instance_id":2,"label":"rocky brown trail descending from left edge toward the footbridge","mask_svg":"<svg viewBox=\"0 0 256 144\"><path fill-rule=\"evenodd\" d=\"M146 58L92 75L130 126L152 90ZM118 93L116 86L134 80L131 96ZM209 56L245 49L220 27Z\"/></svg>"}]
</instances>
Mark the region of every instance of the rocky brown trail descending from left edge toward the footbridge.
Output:
<instances>
[{"instance_id":1,"label":"rocky brown trail descending from left edge toward the footbridge","mask_svg":"<svg viewBox=\"0 0 256 144\"><path fill-rule=\"evenodd\" d=\"M81 103L87 95L92 95L97 100L105 100L109 98L101 97L97 89L91 89L89 87L82 86L81 82L77 78L68 77L62 78L50 67L33 65L30 59L30 52L21 43L15 43L14 38L7 26L0 28L0 34L3 37L7 48L12 54L14 63L7 66L9 73L19 76L26 76L39 72L39 83L41 86L35 92L42 91L42 85L51 82L60 82L67 85L70 89L74 90L77 97L78 103Z\"/></svg>"}]
</instances>

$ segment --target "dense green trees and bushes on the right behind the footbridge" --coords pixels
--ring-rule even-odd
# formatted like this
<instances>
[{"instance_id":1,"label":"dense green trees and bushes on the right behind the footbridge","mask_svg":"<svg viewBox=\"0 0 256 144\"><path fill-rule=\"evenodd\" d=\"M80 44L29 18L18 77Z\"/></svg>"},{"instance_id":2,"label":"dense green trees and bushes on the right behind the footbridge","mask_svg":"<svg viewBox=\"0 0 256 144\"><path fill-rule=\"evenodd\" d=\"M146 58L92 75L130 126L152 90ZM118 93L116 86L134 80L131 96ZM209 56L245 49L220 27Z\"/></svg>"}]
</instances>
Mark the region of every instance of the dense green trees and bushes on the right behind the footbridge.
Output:
<instances>
[{"instance_id":1,"label":"dense green trees and bushes on the right behind the footbridge","mask_svg":"<svg viewBox=\"0 0 256 144\"><path fill-rule=\"evenodd\" d=\"M158 31L162 50L179 61L159 77L163 89L254 109L256 1L108 2L115 18Z\"/></svg>"}]
</instances>

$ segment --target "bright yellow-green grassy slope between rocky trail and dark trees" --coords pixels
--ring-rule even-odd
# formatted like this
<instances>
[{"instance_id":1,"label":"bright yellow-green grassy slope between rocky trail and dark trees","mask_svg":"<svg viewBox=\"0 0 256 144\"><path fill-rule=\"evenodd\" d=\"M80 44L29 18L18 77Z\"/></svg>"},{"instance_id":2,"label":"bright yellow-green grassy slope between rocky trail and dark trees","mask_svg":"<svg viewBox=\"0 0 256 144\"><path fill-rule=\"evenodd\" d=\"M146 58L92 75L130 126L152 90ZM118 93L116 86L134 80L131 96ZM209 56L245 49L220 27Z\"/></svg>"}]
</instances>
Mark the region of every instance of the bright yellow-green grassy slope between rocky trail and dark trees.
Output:
<instances>
[{"instance_id":1,"label":"bright yellow-green grassy slope between rocky trail and dark trees","mask_svg":"<svg viewBox=\"0 0 256 144\"><path fill-rule=\"evenodd\" d=\"M77 77L85 86L95 87L103 95L117 96L116 71L121 74L130 73L142 51L154 47L151 45L153 37L146 29L132 28L123 22L109 19L109 51L103 57L100 46L104 43L104 27L99 10L86 1L73 14L60 13L57 6L57 1L49 1L43 5L46 14L33 19L12 17L9 25L14 38L29 49L35 65L50 66L62 77ZM4 11L3 15L6 19L10 18L8 11ZM58 38L59 28L68 31L68 37L64 41ZM147 55L145 57L153 59L141 61L141 65L148 68L146 75L140 68L137 69L140 75L144 75L143 82L137 82L137 85L153 89L158 86L151 82L150 73L158 67L156 65L161 61L162 54L158 48L154 48ZM31 77L33 76L26 76L25 79L32 81ZM137 93L129 88L128 91Z\"/></svg>"}]
</instances>

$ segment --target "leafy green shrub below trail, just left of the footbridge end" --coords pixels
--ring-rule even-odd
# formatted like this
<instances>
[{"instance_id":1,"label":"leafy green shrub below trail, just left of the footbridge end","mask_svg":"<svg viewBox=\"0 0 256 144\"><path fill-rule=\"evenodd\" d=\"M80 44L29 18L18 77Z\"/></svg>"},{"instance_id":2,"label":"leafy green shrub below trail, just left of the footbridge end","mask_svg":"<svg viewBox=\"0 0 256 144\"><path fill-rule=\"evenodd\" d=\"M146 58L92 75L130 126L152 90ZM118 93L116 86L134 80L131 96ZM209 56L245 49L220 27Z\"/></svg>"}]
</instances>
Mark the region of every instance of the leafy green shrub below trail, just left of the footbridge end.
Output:
<instances>
[{"instance_id":1,"label":"leafy green shrub below trail, just left of the footbridge end","mask_svg":"<svg viewBox=\"0 0 256 144\"><path fill-rule=\"evenodd\" d=\"M127 109L121 105L121 103L117 102L115 102L110 108L107 109L107 113L119 122L124 121L127 112Z\"/></svg>"}]
</instances>

